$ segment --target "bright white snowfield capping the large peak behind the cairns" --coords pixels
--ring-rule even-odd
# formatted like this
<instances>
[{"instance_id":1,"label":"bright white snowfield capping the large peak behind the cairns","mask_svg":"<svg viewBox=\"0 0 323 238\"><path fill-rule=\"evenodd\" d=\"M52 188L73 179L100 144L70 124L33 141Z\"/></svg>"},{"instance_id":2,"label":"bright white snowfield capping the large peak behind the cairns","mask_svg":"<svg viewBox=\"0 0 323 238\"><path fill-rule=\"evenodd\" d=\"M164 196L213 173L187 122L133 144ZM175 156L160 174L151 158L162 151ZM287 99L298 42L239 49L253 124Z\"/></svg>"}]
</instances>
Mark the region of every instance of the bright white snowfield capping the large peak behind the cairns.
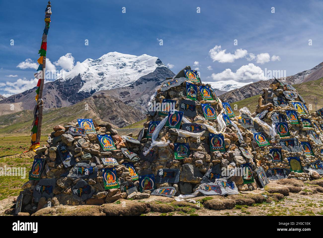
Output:
<instances>
[{"instance_id":1,"label":"bright white snowfield capping the large peak behind the cairns","mask_svg":"<svg viewBox=\"0 0 323 238\"><path fill-rule=\"evenodd\" d=\"M110 52L97 60L86 59L68 72L65 79L73 79L80 74L84 83L79 92L98 92L129 86L157 67L166 67L157 57Z\"/></svg>"}]
</instances>

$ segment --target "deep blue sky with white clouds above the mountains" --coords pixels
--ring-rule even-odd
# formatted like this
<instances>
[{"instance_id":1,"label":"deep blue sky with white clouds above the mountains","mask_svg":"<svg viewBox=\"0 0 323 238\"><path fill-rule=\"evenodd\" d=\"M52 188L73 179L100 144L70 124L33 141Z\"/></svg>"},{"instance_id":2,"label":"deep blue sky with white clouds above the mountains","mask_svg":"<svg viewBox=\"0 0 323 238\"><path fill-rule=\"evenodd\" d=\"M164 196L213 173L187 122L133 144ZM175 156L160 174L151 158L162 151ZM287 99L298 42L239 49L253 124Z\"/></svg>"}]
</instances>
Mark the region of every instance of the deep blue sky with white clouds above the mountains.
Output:
<instances>
[{"instance_id":1,"label":"deep blue sky with white clouds above the mountains","mask_svg":"<svg viewBox=\"0 0 323 238\"><path fill-rule=\"evenodd\" d=\"M17 65L38 58L46 5L0 2L0 94L35 86L29 82L35 69ZM56 69L118 51L159 57L174 73L191 65L203 81L248 82L259 69L286 70L288 76L323 61L323 1L318 0L53 0L52 12L47 58Z\"/></svg>"}]
</instances>

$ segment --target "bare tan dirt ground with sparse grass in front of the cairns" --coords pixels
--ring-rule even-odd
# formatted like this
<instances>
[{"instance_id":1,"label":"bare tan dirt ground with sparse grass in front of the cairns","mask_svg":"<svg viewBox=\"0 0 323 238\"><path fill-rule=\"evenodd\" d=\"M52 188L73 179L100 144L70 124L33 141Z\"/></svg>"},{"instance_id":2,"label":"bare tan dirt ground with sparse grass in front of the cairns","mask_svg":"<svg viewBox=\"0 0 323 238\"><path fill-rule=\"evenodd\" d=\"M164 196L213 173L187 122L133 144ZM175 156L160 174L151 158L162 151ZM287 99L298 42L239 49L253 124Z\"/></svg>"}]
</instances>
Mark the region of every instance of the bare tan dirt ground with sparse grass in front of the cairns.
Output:
<instances>
[{"instance_id":1,"label":"bare tan dirt ground with sparse grass in front of the cairns","mask_svg":"<svg viewBox=\"0 0 323 238\"><path fill-rule=\"evenodd\" d=\"M261 195L264 190L255 190L253 192L246 192L246 195ZM310 193L310 192L308 192ZM245 194L240 194L244 196ZM239 196L239 195L237 195ZM102 209L118 208L122 203L130 205L144 205L145 203L156 203L160 206L172 204L175 208L174 211L158 212L149 211L141 212L141 216L319 216L323 215L323 193L307 194L304 193L289 193L288 196L278 201L263 201L261 203L253 203L252 205L235 205L233 209L213 210L205 208L203 200L218 199L217 196L196 197L194 198L197 203L184 202L185 205L178 206L174 204L173 198L166 198L160 196L151 196L142 200L123 200L117 201L113 204L104 204L103 206L58 206L53 208L46 208L39 210L38 215L73 215L75 212L82 215L80 211L86 211L84 215L105 215ZM5 198L0 201L0 215L4 215L5 209L10 208L13 203L14 197ZM220 199L221 200L221 199ZM201 202L201 203L200 203ZM175 202L176 203L176 202ZM204 205L203 205L204 204ZM169 206L169 205L168 205ZM87 210L86 207L90 207ZM54 210L54 211L53 211ZM131 210L131 209L130 209ZM153 210L153 209L152 209ZM156 209L155 209L156 210ZM73 213L72 213L73 212ZM108 215L108 213L106 214ZM111 214L110 214L111 215Z\"/></svg>"}]
</instances>

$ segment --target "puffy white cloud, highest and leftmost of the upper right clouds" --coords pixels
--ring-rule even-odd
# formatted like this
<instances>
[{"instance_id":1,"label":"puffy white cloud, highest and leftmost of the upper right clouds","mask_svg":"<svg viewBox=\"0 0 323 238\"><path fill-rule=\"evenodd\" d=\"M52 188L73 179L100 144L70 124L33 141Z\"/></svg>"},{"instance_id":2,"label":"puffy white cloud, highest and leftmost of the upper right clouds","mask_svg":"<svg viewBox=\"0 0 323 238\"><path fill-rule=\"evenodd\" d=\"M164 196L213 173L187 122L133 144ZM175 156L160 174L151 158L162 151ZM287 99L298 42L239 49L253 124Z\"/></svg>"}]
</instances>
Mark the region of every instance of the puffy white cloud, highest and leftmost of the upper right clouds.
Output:
<instances>
[{"instance_id":1,"label":"puffy white cloud, highest and leftmost of the upper right clouds","mask_svg":"<svg viewBox=\"0 0 323 238\"><path fill-rule=\"evenodd\" d=\"M235 60L244 58L248 51L243 49L237 49L234 54L225 53L226 50L221 50L221 45L216 45L213 49L209 51L211 59L220 63L233 63Z\"/></svg>"}]
</instances>

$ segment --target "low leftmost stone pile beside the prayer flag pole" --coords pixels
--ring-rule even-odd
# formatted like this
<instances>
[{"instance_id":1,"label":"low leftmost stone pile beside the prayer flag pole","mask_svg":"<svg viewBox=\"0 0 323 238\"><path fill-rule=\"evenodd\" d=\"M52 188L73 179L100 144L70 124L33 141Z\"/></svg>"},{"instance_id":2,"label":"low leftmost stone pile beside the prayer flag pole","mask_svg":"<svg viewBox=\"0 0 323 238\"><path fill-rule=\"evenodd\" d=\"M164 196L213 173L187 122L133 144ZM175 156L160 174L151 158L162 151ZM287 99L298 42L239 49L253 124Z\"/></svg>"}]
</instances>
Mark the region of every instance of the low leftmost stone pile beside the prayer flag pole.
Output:
<instances>
[{"instance_id":1,"label":"low leftmost stone pile beside the prayer flag pole","mask_svg":"<svg viewBox=\"0 0 323 238\"><path fill-rule=\"evenodd\" d=\"M20 211L32 214L44 207L59 204L112 203L120 198L127 198L130 195L129 191L136 191L129 198L140 199L150 196L138 192L139 181L133 181L129 169L124 166L126 162L134 162L135 170L140 170L139 164L136 163L139 157L132 156L130 160L125 155L129 150L138 152L139 142L130 137L132 134L119 136L117 130L110 124L97 125L94 122L94 125L96 133L84 135L69 133L72 131L70 129L78 128L73 122L53 128L54 131L48 136L48 144L36 149L34 159L44 159L44 167L39 168L38 178L30 179L22 186L23 191L17 199L16 214ZM98 135L110 135L116 149L104 151L99 144ZM66 154L69 155L68 159L64 157ZM104 158L109 158L110 165L104 165ZM115 168L119 188L105 190L103 168ZM133 189L127 191L126 187ZM83 191L83 194L79 194L79 191Z\"/></svg>"}]
</instances>

